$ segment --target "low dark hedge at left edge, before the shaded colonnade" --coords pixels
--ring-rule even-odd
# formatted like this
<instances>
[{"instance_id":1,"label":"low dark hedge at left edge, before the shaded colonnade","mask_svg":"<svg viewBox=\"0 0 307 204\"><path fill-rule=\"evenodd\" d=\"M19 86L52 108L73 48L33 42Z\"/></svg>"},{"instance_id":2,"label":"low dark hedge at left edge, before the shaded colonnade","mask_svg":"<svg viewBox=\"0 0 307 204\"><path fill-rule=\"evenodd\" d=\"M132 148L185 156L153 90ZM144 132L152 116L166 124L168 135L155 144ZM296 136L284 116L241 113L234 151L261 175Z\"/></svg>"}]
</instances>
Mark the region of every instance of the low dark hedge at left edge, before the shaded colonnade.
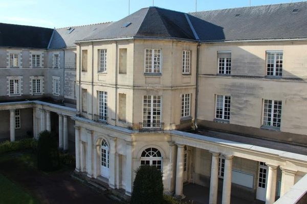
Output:
<instances>
[{"instance_id":1,"label":"low dark hedge at left edge, before the shaded colonnade","mask_svg":"<svg viewBox=\"0 0 307 204\"><path fill-rule=\"evenodd\" d=\"M0 155L10 151L24 150L31 148L34 139L23 139L14 142L4 141L0 143Z\"/></svg>"}]
</instances>

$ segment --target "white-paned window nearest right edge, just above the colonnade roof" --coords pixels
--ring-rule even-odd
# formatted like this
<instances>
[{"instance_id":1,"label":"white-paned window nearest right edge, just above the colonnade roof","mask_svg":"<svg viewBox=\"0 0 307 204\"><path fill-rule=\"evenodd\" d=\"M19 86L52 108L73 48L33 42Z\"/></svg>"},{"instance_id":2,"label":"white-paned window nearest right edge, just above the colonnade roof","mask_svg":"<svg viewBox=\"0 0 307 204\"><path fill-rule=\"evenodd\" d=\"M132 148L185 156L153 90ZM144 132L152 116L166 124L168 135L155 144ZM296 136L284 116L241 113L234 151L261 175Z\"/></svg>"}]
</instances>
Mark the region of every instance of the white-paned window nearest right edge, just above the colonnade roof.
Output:
<instances>
[{"instance_id":1,"label":"white-paned window nearest right edge, just above the colonnade roof","mask_svg":"<svg viewBox=\"0 0 307 204\"><path fill-rule=\"evenodd\" d=\"M264 100L264 122L263 125L280 127L281 100Z\"/></svg>"}]
</instances>

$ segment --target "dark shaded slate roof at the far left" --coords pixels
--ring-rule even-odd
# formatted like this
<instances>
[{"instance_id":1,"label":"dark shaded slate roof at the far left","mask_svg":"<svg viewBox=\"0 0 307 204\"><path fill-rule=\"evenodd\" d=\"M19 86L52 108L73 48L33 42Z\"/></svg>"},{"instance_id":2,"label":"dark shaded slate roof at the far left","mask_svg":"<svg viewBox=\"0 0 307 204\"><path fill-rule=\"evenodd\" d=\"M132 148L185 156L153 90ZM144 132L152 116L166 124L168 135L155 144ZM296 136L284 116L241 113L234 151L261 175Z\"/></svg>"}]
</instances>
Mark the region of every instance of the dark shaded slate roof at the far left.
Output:
<instances>
[{"instance_id":1,"label":"dark shaded slate roof at the far left","mask_svg":"<svg viewBox=\"0 0 307 204\"><path fill-rule=\"evenodd\" d=\"M48 47L53 29L0 23L0 46L4 47Z\"/></svg>"}]
</instances>

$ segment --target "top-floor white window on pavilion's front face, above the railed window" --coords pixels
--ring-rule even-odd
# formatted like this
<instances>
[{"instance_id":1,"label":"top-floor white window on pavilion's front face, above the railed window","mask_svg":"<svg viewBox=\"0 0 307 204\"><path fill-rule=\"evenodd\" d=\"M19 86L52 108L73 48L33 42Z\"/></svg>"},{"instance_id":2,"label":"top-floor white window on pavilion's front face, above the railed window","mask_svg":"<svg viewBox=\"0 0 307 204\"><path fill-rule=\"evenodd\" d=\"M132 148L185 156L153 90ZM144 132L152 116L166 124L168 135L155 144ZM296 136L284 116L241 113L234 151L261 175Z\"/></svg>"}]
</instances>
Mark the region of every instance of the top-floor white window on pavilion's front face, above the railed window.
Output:
<instances>
[{"instance_id":1,"label":"top-floor white window on pavilion's front face, above the railed window","mask_svg":"<svg viewBox=\"0 0 307 204\"><path fill-rule=\"evenodd\" d=\"M161 49L145 49L145 73L161 73Z\"/></svg>"}]
</instances>

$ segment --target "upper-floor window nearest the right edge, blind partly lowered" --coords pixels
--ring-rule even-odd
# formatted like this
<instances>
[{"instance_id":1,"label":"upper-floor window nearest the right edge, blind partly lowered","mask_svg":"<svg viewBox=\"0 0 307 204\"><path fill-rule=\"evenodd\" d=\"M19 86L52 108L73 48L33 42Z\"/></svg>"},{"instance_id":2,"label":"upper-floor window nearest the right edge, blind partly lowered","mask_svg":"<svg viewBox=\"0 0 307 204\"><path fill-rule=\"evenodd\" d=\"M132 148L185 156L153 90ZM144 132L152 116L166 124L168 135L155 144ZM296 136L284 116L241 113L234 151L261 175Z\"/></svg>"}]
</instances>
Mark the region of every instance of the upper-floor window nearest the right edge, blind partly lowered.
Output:
<instances>
[{"instance_id":1,"label":"upper-floor window nearest the right edge, blind partly lowered","mask_svg":"<svg viewBox=\"0 0 307 204\"><path fill-rule=\"evenodd\" d=\"M282 76L282 52L267 52L267 75Z\"/></svg>"}]
</instances>

